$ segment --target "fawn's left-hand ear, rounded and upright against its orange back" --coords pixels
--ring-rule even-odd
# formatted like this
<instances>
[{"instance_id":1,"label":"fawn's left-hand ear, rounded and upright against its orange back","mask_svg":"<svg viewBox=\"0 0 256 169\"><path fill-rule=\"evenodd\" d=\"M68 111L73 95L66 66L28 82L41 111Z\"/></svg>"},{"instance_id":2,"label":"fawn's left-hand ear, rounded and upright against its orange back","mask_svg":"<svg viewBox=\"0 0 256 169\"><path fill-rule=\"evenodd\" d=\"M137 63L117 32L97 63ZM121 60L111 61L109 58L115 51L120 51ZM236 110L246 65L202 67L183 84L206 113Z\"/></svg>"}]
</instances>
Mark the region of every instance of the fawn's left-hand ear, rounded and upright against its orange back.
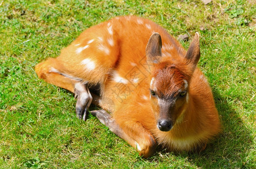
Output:
<instances>
[{"instance_id":1,"label":"fawn's left-hand ear, rounded and upright against its orange back","mask_svg":"<svg viewBox=\"0 0 256 169\"><path fill-rule=\"evenodd\" d=\"M159 33L154 33L149 38L146 46L147 61L158 63L159 58L162 56L162 39Z\"/></svg>"}]
</instances>

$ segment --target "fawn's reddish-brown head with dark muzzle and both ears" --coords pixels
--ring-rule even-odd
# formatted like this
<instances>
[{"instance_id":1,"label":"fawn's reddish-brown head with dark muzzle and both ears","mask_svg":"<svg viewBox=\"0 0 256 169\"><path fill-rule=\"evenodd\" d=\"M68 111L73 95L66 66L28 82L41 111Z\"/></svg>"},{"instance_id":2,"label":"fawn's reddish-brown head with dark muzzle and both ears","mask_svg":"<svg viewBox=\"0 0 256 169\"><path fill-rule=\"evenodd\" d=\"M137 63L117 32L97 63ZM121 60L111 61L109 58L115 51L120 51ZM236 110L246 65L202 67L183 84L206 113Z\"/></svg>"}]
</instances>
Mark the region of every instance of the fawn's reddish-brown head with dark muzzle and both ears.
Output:
<instances>
[{"instance_id":1,"label":"fawn's reddish-brown head with dark muzzle and both ears","mask_svg":"<svg viewBox=\"0 0 256 169\"><path fill-rule=\"evenodd\" d=\"M189 82L200 57L199 34L196 33L184 56L163 57L161 49L160 34L154 33L146 46L147 61L154 65L149 88L150 103L159 130L170 131L189 102Z\"/></svg>"}]
</instances>

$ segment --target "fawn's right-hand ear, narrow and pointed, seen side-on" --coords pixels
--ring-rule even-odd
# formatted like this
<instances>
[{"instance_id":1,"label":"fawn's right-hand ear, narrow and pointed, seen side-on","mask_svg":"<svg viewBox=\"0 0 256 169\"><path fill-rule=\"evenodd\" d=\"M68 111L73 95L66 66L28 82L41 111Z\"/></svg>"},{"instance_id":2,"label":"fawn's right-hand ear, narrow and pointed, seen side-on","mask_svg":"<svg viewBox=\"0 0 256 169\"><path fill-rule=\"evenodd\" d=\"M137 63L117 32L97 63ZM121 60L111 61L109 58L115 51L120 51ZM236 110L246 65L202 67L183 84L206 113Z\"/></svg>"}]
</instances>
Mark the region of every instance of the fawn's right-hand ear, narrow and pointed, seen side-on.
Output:
<instances>
[{"instance_id":1,"label":"fawn's right-hand ear, narrow and pointed, seen side-on","mask_svg":"<svg viewBox=\"0 0 256 169\"><path fill-rule=\"evenodd\" d=\"M189 63L193 64L196 68L197 63L200 58L200 47L199 47L199 34L198 32L194 35L193 41L190 43L188 51L186 52L186 59L189 60Z\"/></svg>"}]
</instances>

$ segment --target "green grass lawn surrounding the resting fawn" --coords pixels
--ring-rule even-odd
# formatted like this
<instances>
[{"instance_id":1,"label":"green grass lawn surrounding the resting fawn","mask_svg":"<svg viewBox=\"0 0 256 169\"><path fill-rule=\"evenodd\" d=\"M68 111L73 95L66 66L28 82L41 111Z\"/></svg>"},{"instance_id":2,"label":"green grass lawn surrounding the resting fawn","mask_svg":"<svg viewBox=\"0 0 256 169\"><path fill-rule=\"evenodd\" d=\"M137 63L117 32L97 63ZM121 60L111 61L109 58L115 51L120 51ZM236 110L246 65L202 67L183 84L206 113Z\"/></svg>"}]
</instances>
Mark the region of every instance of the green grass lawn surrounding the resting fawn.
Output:
<instances>
[{"instance_id":1,"label":"green grass lawn surrounding the resting fawn","mask_svg":"<svg viewBox=\"0 0 256 169\"><path fill-rule=\"evenodd\" d=\"M199 67L223 126L201 154L143 159L96 118L77 119L73 95L34 73L86 28L131 14L175 37L201 34ZM255 1L0 1L0 168L255 168L255 33Z\"/></svg>"}]
</instances>

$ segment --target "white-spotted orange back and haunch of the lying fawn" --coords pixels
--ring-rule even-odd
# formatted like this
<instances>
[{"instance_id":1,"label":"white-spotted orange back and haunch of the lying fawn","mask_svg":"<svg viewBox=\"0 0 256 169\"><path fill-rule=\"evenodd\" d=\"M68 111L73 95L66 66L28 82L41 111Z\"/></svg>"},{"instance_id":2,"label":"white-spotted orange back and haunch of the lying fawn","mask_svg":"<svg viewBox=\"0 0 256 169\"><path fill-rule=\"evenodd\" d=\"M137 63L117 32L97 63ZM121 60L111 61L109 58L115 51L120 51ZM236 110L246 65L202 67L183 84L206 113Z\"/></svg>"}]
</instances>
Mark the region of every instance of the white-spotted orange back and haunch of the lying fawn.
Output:
<instances>
[{"instance_id":1,"label":"white-spotted orange back and haunch of the lying fawn","mask_svg":"<svg viewBox=\"0 0 256 169\"><path fill-rule=\"evenodd\" d=\"M156 32L162 36L163 56L175 59L185 54L176 39L153 21L121 16L86 29L57 57L55 64L62 72L51 71L100 84L101 107L112 112L132 92L148 86L151 66L145 48L150 35Z\"/></svg>"}]
</instances>

